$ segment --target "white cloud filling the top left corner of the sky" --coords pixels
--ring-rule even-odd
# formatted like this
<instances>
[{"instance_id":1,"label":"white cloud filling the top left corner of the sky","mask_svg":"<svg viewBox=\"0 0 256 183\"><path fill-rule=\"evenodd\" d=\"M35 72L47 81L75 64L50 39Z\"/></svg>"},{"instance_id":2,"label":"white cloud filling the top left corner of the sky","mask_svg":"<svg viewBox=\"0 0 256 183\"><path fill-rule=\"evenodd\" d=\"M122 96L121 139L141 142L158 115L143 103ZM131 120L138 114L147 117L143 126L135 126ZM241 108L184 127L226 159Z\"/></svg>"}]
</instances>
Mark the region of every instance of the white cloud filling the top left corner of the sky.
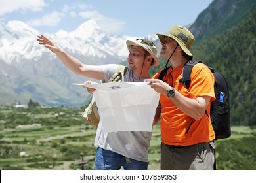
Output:
<instances>
[{"instance_id":1,"label":"white cloud filling the top left corner of the sky","mask_svg":"<svg viewBox=\"0 0 256 183\"><path fill-rule=\"evenodd\" d=\"M0 0L0 15L14 12L16 10L39 11L46 6L44 0Z\"/></svg>"}]
</instances>

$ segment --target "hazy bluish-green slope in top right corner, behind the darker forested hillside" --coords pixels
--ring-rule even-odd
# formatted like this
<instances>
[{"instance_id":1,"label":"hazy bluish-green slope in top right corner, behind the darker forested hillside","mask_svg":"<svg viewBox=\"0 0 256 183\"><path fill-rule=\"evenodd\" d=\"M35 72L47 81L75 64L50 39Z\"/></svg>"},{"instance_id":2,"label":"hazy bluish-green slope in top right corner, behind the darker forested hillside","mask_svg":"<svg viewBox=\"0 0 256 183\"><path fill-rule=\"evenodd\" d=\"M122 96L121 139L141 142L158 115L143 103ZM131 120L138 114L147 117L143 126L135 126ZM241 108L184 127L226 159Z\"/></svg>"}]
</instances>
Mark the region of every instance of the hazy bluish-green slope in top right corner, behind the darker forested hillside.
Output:
<instances>
[{"instance_id":1,"label":"hazy bluish-green slope in top right corner, behind the darker forested hillside","mask_svg":"<svg viewBox=\"0 0 256 183\"><path fill-rule=\"evenodd\" d=\"M190 31L200 41L239 25L256 5L255 0L215 0L201 12Z\"/></svg>"}]
</instances>

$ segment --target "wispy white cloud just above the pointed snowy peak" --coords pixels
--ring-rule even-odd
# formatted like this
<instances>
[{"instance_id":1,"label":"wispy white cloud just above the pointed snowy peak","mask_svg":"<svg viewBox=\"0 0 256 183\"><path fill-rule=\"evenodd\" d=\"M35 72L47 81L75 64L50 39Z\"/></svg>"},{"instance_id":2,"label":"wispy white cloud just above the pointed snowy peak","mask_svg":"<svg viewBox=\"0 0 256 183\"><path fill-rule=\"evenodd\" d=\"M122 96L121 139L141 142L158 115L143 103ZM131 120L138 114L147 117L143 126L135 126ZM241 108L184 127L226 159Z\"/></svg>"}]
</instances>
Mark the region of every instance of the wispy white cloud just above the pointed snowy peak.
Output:
<instances>
[{"instance_id":1,"label":"wispy white cloud just above the pointed snowy peak","mask_svg":"<svg viewBox=\"0 0 256 183\"><path fill-rule=\"evenodd\" d=\"M123 25L125 25L124 21L117 20L114 18L108 18L95 10L80 12L79 16L81 16L81 18L84 18L84 19L95 20L101 29L108 32L122 31Z\"/></svg>"}]
</instances>

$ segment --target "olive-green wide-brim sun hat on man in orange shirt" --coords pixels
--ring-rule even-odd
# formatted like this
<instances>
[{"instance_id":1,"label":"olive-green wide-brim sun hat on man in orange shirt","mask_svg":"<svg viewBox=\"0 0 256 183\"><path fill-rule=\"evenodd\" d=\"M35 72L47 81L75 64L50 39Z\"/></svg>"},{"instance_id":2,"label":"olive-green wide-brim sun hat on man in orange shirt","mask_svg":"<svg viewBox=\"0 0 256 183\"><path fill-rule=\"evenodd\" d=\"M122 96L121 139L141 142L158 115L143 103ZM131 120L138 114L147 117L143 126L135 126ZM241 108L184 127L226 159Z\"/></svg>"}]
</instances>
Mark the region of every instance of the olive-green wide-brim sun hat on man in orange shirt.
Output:
<instances>
[{"instance_id":1,"label":"olive-green wide-brim sun hat on man in orange shirt","mask_svg":"<svg viewBox=\"0 0 256 183\"><path fill-rule=\"evenodd\" d=\"M157 33L156 35L158 35L161 42L164 41L164 37L171 37L172 39L178 42L182 50L186 54L188 54L188 56L193 56L192 53L190 52L190 48L192 47L195 38L186 27L174 25L167 33Z\"/></svg>"}]
</instances>

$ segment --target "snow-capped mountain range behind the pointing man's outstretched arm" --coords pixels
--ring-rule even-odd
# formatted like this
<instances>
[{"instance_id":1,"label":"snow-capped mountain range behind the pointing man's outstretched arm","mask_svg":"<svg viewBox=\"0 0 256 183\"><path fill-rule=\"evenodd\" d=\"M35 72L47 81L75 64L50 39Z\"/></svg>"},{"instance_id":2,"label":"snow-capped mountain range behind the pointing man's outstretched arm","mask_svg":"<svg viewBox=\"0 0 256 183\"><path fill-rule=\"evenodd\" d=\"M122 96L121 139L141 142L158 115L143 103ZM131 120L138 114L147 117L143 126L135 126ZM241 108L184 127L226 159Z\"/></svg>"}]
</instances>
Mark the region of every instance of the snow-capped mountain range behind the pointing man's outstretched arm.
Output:
<instances>
[{"instance_id":1,"label":"snow-capped mountain range behind the pointing man's outstretched arm","mask_svg":"<svg viewBox=\"0 0 256 183\"><path fill-rule=\"evenodd\" d=\"M56 56L36 41L39 31L20 21L0 22L0 105L29 99L45 105L85 105L89 95L72 86L88 78L68 70ZM106 33L95 20L71 32L45 33L83 63L101 65L125 61L128 50L125 35Z\"/></svg>"}]
</instances>

